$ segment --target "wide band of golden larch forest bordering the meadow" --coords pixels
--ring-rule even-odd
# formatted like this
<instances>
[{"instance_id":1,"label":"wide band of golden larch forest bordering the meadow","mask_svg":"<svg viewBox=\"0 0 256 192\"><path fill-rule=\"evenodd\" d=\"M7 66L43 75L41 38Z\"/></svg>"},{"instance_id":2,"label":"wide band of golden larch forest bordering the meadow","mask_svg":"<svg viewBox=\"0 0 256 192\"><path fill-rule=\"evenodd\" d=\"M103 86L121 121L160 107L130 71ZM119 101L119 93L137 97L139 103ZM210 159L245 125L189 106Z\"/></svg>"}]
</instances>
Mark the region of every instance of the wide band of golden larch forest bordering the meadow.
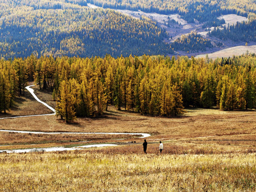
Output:
<instances>
[{"instance_id":1,"label":"wide band of golden larch forest bordering the meadow","mask_svg":"<svg viewBox=\"0 0 256 192\"><path fill-rule=\"evenodd\" d=\"M57 115L102 115L109 105L143 115L176 116L184 107L256 107L256 57L41 57L0 60L0 111L28 81L53 90Z\"/></svg>"}]
</instances>

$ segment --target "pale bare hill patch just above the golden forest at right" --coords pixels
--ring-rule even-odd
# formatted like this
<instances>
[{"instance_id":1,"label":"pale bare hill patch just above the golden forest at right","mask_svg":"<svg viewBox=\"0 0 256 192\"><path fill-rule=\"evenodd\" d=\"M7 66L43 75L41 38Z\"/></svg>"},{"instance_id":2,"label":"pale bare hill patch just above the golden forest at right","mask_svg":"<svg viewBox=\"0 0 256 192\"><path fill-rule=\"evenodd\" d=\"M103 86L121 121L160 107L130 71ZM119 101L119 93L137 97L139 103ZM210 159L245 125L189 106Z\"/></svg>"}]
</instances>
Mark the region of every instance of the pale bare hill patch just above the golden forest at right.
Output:
<instances>
[{"instance_id":1,"label":"pale bare hill patch just above the golden forest at right","mask_svg":"<svg viewBox=\"0 0 256 192\"><path fill-rule=\"evenodd\" d=\"M233 57L239 56L245 53L256 53L256 45L252 46L235 46L230 47L228 49L223 49L221 51L217 51L214 53L208 54L208 57L210 59L216 59L216 58L227 58L227 57ZM206 54L197 55L196 58L205 58Z\"/></svg>"}]
</instances>

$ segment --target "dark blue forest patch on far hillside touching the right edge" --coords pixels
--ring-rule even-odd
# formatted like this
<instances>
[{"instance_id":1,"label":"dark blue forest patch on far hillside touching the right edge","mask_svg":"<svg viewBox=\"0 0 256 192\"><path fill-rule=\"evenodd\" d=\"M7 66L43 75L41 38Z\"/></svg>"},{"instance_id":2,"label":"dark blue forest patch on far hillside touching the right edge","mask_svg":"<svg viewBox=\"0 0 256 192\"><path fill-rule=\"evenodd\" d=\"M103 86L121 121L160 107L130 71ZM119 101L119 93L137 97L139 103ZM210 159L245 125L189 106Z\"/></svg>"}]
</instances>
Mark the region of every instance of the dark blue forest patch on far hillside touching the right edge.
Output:
<instances>
[{"instance_id":1,"label":"dark blue forest patch on far hillside touching the right edge","mask_svg":"<svg viewBox=\"0 0 256 192\"><path fill-rule=\"evenodd\" d=\"M209 33L209 36L235 42L256 42L256 20L242 23L237 22L236 25L225 26L224 29L214 28Z\"/></svg>"}]
</instances>

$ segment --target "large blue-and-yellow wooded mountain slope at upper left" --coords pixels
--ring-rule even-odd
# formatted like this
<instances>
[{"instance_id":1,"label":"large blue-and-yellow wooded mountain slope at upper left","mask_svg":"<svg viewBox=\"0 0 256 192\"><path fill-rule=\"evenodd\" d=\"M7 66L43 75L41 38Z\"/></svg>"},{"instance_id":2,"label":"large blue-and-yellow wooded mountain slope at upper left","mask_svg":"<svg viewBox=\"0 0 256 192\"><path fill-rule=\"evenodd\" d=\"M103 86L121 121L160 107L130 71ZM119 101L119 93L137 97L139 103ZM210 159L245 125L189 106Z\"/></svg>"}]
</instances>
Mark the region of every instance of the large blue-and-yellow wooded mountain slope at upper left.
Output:
<instances>
[{"instance_id":1,"label":"large blue-and-yellow wooded mountain slope at upper left","mask_svg":"<svg viewBox=\"0 0 256 192\"><path fill-rule=\"evenodd\" d=\"M163 42L167 34L156 22L81 5L86 2L1 3L5 9L0 11L0 57L27 57L32 53L38 57L173 53Z\"/></svg>"}]
</instances>

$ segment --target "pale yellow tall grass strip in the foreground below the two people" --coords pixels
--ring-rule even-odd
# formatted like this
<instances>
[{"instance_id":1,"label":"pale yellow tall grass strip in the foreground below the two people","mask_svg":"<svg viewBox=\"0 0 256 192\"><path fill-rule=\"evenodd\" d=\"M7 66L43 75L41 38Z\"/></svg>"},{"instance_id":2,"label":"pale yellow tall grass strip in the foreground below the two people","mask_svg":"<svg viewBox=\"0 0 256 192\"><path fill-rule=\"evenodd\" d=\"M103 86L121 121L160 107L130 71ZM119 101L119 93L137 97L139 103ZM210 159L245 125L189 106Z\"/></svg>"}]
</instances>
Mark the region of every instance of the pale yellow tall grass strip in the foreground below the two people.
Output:
<instances>
[{"instance_id":1,"label":"pale yellow tall grass strip in the foreground below the two people","mask_svg":"<svg viewBox=\"0 0 256 192\"><path fill-rule=\"evenodd\" d=\"M255 191L255 154L0 155L2 191Z\"/></svg>"}]
</instances>

